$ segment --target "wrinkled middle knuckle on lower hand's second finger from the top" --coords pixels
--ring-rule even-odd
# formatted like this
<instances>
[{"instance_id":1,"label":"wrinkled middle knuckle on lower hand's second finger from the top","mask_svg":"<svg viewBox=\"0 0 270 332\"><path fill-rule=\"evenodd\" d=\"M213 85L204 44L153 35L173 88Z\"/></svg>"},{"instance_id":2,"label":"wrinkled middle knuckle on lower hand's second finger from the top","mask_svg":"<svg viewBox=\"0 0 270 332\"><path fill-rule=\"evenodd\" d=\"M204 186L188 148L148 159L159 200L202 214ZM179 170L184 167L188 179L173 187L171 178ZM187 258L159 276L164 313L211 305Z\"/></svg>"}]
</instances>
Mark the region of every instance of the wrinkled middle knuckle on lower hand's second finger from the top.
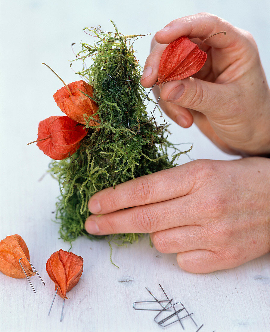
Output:
<instances>
[{"instance_id":1,"label":"wrinkled middle knuckle on lower hand's second finger from the top","mask_svg":"<svg viewBox=\"0 0 270 332\"><path fill-rule=\"evenodd\" d=\"M155 215L149 207L140 207L135 213L135 227L141 233L152 233L154 231Z\"/></svg>"}]
</instances>

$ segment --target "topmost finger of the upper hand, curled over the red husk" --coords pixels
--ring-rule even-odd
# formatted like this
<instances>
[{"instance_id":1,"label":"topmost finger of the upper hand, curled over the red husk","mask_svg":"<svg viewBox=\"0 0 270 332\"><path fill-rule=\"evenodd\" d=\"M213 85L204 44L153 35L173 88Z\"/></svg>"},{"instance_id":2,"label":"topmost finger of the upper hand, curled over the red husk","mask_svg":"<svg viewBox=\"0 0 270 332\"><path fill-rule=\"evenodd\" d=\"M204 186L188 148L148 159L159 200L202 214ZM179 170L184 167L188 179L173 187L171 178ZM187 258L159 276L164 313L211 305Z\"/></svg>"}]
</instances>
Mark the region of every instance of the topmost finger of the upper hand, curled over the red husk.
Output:
<instances>
[{"instance_id":1,"label":"topmost finger of the upper hand, curled over the red husk","mask_svg":"<svg viewBox=\"0 0 270 332\"><path fill-rule=\"evenodd\" d=\"M200 13L170 22L155 34L155 40L160 44L169 44L182 36L199 37L204 40L219 31L226 31L227 36L216 35L205 43L212 47L225 48L231 46L239 38L239 30L229 22L216 15Z\"/></svg>"}]
</instances>

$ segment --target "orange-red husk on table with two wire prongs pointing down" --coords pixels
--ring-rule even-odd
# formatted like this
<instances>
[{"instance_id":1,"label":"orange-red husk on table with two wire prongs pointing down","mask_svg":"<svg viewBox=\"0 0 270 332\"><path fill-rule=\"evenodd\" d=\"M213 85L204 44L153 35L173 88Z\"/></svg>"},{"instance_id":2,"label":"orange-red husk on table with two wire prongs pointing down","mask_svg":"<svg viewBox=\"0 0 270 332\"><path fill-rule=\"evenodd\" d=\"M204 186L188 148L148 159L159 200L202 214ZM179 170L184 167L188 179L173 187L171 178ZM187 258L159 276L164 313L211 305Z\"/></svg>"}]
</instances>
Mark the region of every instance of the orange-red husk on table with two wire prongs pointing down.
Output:
<instances>
[{"instance_id":1,"label":"orange-red husk on table with two wire prongs pointing down","mask_svg":"<svg viewBox=\"0 0 270 332\"><path fill-rule=\"evenodd\" d=\"M83 258L62 249L53 253L46 263L46 271L63 299L81 278Z\"/></svg>"}]
</instances>

